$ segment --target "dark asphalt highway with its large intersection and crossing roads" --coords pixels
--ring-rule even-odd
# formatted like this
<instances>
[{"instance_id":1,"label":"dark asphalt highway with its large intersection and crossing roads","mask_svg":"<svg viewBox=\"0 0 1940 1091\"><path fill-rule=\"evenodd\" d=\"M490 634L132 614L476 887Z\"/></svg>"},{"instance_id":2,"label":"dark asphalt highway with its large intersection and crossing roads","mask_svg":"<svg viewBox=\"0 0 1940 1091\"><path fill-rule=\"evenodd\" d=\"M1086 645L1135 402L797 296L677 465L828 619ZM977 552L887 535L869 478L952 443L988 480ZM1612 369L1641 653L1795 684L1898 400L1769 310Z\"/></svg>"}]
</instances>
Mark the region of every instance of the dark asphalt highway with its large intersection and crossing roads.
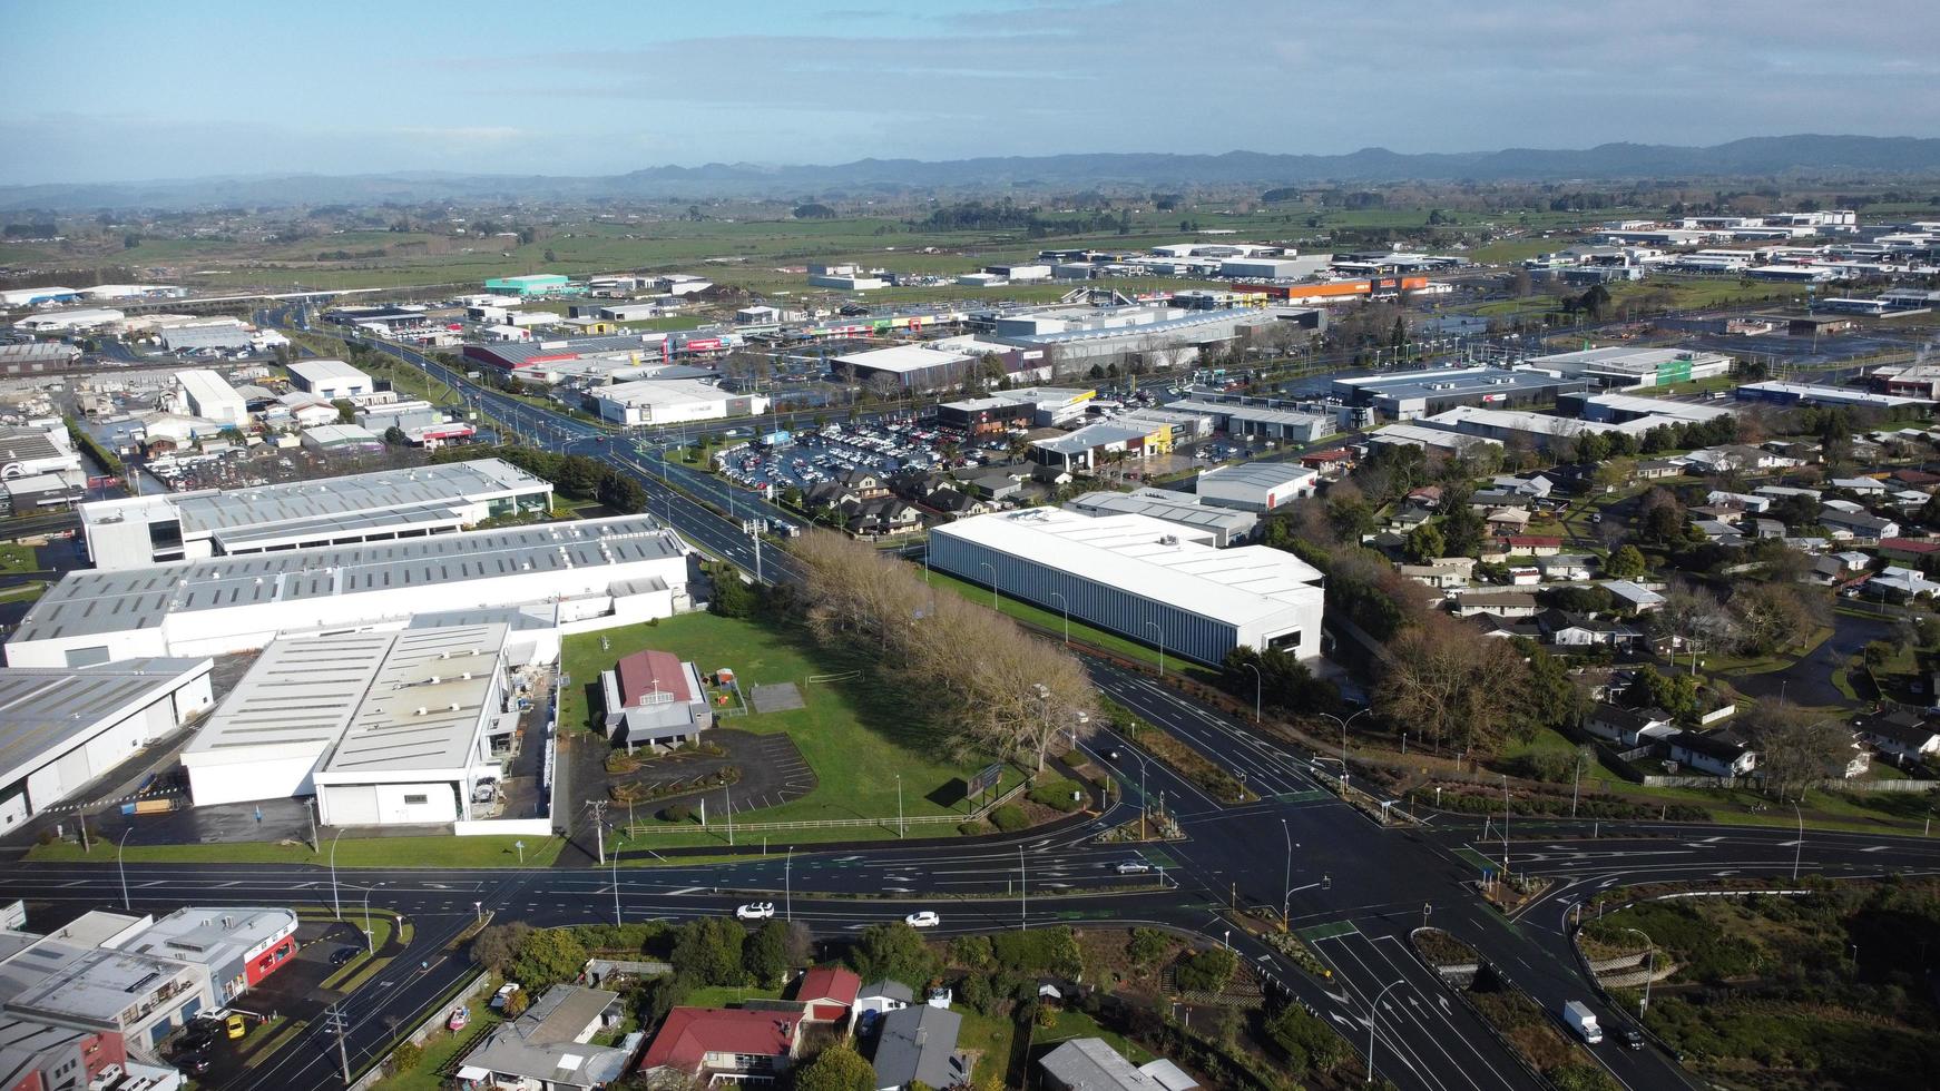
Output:
<instances>
[{"instance_id":1,"label":"dark asphalt highway with its large intersection and crossing roads","mask_svg":"<svg viewBox=\"0 0 1940 1091\"><path fill-rule=\"evenodd\" d=\"M551 450L586 453L636 477L648 510L695 546L766 581L799 583L801 566L774 546L759 546L737 521L700 504L778 517L759 498L687 467L662 463L650 440L535 409L471 384L405 347L382 351L425 368ZM502 417L501 417L502 415ZM675 488L675 484L679 488ZM745 515L743 515L745 517ZM757 562L757 548L760 558ZM1548 1012L1587 1002L1606 1027L1628 1025L1581 977L1569 944L1571 905L1593 889L1732 874L1839 876L1940 870L1940 845L1878 835L1666 824L1515 822L1509 864L1556 886L1513 920L1476 895L1476 855L1500 858L1502 841L1480 839L1480 824L1447 814L1412 826L1381 826L1337 798L1329 785L1339 760L1310 754L1271 731L1238 721L1162 686L1150 674L1108 663L1088 665L1098 690L1228 769L1261 798L1220 800L1110 731L1084 748L1117 769L1123 795L1090 820L1053 831L978 841L890 841L863 849L743 847L741 857L667 860L629 847L619 870L555 866L495 870L340 868L345 888L382 884L372 903L409 915L417 938L347 1002L345 1044L359 1058L388 1048L390 1027L415 1023L466 973L462 951L446 944L479 913L534 924L683 920L731 911L741 901L776 901L819 938L840 938L914 909L935 909L941 932L987 932L1024 922L1156 924L1212 944L1230 944L1261 977L1333 1023L1362 1054L1374 1031L1375 1072L1401 1087L1457 1091L1538 1087L1490 1029L1412 953L1408 936L1424 922L1474 946ZM1112 754L1117 754L1114 760ZM1141 800L1164 802L1183 839L1152 845L1100 845L1098 833L1139 816ZM652 858L652 860L650 860ZM1116 864L1141 858L1150 874L1119 876ZM128 864L128 901L163 913L178 905L320 903L330 897L322 866ZM50 907L66 917L120 903L113 864L23 864L0 878L0 895ZM1284 955L1234 928L1232 907L1286 911L1290 926L1333 969L1329 981L1296 969ZM1379 1012L1372 1002L1381 1000ZM310 1091L336 1087L336 1052L322 1031L307 1029L237 1087ZM1626 1089L1688 1087L1690 1079L1655 1048L1626 1050L1614 1039L1593 1056Z\"/></svg>"}]
</instances>

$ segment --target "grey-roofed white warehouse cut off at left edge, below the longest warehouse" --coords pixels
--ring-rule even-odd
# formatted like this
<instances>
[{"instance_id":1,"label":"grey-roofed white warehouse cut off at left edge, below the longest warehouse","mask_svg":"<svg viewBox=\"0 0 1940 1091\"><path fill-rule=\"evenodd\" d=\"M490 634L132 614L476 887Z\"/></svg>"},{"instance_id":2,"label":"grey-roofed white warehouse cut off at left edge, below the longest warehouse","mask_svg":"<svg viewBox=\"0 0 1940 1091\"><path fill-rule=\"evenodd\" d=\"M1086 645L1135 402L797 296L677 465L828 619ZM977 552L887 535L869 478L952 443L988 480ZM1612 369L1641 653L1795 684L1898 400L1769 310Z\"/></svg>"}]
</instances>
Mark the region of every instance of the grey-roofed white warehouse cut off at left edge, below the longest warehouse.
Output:
<instances>
[{"instance_id":1,"label":"grey-roofed white warehouse cut off at left edge, below the longest warehouse","mask_svg":"<svg viewBox=\"0 0 1940 1091\"><path fill-rule=\"evenodd\" d=\"M0 833L208 711L208 659L0 669Z\"/></svg>"}]
</instances>

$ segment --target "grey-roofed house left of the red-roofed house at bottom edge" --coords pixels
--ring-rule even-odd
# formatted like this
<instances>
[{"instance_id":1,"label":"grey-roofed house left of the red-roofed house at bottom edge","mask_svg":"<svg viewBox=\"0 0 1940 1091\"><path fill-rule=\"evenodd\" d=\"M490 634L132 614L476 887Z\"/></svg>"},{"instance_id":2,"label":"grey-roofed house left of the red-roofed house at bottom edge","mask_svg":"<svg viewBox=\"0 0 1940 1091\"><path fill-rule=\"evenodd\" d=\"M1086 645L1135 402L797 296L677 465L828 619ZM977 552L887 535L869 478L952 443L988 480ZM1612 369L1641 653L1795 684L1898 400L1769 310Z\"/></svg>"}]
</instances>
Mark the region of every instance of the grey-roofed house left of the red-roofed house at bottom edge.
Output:
<instances>
[{"instance_id":1,"label":"grey-roofed house left of the red-roofed house at bottom edge","mask_svg":"<svg viewBox=\"0 0 1940 1091\"><path fill-rule=\"evenodd\" d=\"M632 1054L588 1044L619 1023L617 992L555 984L510 1023L499 1023L483 1044L466 1054L458 1083L468 1089L570 1091L617 1081Z\"/></svg>"}]
</instances>

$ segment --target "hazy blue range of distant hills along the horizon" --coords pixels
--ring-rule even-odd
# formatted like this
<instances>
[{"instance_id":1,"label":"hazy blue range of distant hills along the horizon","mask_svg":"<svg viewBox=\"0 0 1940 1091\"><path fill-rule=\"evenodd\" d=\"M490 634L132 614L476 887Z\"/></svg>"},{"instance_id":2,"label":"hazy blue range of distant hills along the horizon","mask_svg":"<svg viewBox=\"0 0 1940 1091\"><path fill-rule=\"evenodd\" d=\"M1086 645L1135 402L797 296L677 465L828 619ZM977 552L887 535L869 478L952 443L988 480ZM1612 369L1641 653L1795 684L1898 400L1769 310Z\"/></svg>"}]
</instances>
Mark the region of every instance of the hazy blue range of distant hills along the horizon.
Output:
<instances>
[{"instance_id":1,"label":"hazy blue range of distant hills along the horizon","mask_svg":"<svg viewBox=\"0 0 1940 1091\"><path fill-rule=\"evenodd\" d=\"M547 174L287 174L114 184L0 186L0 211L198 205L305 205L380 202L495 202L559 198L801 196L826 190L1009 190L1084 186L1290 186L1472 178L1620 180L1771 176L1793 171L1940 174L1940 140L1886 136L1762 136L1713 147L1600 143L1589 149L1405 155L1364 147L1348 155L1086 153L984 159L857 159L823 167L706 163L648 167L611 176Z\"/></svg>"}]
</instances>

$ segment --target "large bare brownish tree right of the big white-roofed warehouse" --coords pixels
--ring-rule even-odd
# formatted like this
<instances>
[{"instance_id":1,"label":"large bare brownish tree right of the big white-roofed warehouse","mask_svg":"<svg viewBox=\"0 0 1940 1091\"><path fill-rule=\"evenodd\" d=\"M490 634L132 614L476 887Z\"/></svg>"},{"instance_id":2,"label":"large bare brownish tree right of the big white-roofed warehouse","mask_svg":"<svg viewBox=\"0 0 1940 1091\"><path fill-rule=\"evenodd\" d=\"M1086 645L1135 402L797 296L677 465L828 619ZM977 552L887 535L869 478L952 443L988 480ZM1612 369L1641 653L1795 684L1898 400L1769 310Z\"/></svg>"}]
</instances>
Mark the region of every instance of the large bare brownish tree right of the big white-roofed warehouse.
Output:
<instances>
[{"instance_id":1,"label":"large bare brownish tree right of the big white-roofed warehouse","mask_svg":"<svg viewBox=\"0 0 1940 1091\"><path fill-rule=\"evenodd\" d=\"M1507 641L1436 614L1389 643L1375 709L1438 746L1488 750L1513 719L1527 672Z\"/></svg>"}]
</instances>

